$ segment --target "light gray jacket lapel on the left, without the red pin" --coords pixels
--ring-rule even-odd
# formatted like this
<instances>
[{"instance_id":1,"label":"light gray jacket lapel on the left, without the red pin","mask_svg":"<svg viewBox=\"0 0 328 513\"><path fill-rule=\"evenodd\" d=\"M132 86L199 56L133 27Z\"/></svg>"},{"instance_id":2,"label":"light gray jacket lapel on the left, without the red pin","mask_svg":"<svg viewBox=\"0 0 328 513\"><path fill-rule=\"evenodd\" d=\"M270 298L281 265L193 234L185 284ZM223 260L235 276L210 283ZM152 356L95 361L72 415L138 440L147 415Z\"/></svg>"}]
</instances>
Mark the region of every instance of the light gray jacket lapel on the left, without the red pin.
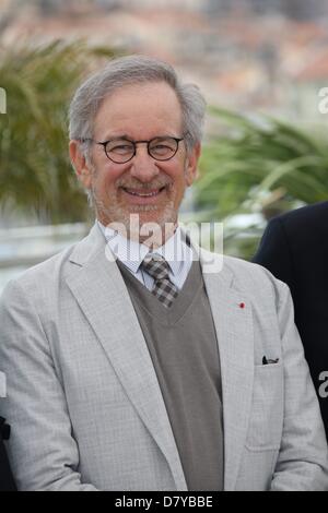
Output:
<instances>
[{"instance_id":1,"label":"light gray jacket lapel on the left, without the red pin","mask_svg":"<svg viewBox=\"0 0 328 513\"><path fill-rule=\"evenodd\" d=\"M94 226L71 255L67 283L128 397L165 455L176 487L186 481L152 360L120 272ZM106 248L107 250L107 248ZM110 259L112 252L107 253Z\"/></svg>"}]
</instances>

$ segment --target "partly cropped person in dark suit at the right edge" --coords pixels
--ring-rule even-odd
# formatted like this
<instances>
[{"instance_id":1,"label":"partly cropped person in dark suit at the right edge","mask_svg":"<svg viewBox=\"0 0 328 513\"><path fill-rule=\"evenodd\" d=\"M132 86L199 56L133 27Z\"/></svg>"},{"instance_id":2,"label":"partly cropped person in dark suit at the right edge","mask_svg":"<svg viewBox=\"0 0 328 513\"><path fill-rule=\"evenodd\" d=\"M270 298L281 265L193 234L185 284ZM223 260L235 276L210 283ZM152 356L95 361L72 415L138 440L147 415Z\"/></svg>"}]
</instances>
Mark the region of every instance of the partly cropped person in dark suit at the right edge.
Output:
<instances>
[{"instance_id":1,"label":"partly cropped person in dark suit at the right edge","mask_svg":"<svg viewBox=\"0 0 328 513\"><path fill-rule=\"evenodd\" d=\"M305 349L328 440L328 202L273 218L255 262L291 289L295 322Z\"/></svg>"}]
</instances>

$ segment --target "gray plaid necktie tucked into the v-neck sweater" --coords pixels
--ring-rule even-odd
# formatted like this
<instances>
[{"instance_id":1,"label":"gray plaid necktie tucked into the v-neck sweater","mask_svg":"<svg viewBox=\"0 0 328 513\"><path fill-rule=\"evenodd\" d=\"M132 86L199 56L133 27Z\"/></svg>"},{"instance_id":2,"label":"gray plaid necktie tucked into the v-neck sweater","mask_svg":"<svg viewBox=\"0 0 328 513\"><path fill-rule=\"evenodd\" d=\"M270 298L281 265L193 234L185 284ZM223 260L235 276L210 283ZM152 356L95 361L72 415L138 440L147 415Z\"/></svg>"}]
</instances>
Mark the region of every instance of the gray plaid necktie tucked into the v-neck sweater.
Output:
<instances>
[{"instance_id":1,"label":"gray plaid necktie tucked into the v-neck sweater","mask_svg":"<svg viewBox=\"0 0 328 513\"><path fill-rule=\"evenodd\" d=\"M168 276L168 263L163 256L151 256L147 254L142 262L144 271L154 278L152 294L156 296L166 308L169 308L173 300L178 295L177 287L171 282Z\"/></svg>"}]
</instances>

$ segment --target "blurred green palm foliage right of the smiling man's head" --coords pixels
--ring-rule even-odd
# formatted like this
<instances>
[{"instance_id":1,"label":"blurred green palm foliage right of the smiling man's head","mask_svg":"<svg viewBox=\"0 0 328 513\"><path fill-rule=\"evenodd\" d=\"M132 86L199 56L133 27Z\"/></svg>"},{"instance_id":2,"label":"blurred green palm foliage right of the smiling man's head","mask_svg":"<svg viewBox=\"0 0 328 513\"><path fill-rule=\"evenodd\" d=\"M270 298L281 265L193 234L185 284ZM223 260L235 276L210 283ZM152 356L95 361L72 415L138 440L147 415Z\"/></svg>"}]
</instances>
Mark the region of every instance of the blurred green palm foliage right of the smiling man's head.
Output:
<instances>
[{"instance_id":1,"label":"blurred green palm foliage right of the smiling man's head","mask_svg":"<svg viewBox=\"0 0 328 513\"><path fill-rule=\"evenodd\" d=\"M328 199L326 129L306 133L268 116L248 118L219 108L211 108L211 114L219 129L204 145L200 162L199 220L231 222L236 214L254 213L270 218ZM253 241L241 242L242 256L256 248L260 226L251 228ZM227 252L236 251L234 239L239 235L237 229L233 237L226 231Z\"/></svg>"}]
</instances>

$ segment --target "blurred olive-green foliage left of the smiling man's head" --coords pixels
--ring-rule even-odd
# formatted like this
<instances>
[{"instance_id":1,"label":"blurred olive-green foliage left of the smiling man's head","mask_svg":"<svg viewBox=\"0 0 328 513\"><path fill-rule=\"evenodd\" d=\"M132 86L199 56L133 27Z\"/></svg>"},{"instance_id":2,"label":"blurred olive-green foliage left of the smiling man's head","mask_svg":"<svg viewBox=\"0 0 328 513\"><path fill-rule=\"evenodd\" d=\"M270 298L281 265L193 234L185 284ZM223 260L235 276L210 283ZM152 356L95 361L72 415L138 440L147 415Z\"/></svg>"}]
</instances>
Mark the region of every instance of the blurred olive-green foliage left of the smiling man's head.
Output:
<instances>
[{"instance_id":1,"label":"blurred olive-green foliage left of the smiling man's head","mask_svg":"<svg viewBox=\"0 0 328 513\"><path fill-rule=\"evenodd\" d=\"M82 41L0 48L0 204L34 212L49 223L87 218L84 192L68 155L67 112L81 80L113 57Z\"/></svg>"}]
</instances>

